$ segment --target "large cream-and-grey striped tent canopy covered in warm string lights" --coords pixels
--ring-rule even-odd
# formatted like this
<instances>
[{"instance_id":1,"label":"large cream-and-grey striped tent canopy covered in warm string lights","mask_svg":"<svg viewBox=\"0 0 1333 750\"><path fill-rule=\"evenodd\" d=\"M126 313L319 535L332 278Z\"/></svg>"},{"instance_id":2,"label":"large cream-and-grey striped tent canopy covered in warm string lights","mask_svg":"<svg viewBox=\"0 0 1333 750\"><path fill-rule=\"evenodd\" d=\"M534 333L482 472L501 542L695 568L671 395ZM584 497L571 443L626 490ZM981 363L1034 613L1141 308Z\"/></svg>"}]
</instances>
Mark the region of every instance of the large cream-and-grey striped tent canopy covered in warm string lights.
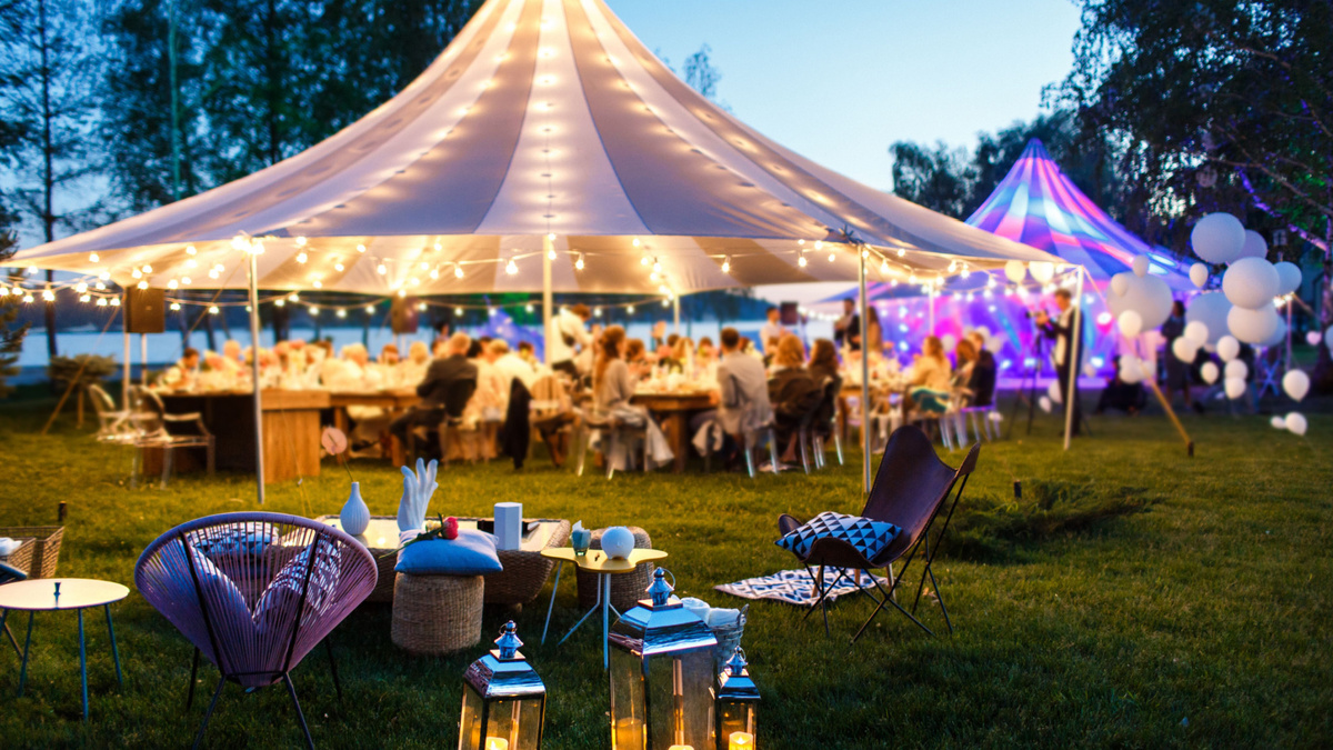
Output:
<instances>
[{"instance_id":1,"label":"large cream-and-grey striped tent canopy covered in warm string lights","mask_svg":"<svg viewBox=\"0 0 1333 750\"><path fill-rule=\"evenodd\" d=\"M240 239L239 239L240 238ZM837 175L677 79L601 0L488 0L397 96L233 183L21 252L121 284L684 294L1045 252Z\"/></svg>"}]
</instances>

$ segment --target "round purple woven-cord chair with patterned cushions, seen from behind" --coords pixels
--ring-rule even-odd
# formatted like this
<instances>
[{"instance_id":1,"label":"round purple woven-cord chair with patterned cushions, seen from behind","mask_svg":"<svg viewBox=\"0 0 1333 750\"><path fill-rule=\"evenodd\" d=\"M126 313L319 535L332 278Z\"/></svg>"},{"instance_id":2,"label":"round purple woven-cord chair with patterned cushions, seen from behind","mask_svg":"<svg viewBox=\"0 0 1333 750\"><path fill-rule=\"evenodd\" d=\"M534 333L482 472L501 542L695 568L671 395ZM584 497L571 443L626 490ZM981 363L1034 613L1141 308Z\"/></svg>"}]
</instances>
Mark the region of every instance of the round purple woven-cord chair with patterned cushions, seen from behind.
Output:
<instances>
[{"instance_id":1,"label":"round purple woven-cord chair with patterned cushions, seen from behind","mask_svg":"<svg viewBox=\"0 0 1333 750\"><path fill-rule=\"evenodd\" d=\"M163 534L135 565L135 586L191 643L188 710L200 653L221 678L195 737L208 729L227 681L247 691L283 682L315 747L289 673L375 589L371 552L331 526L272 512L228 512ZM333 686L343 689L325 641Z\"/></svg>"}]
</instances>

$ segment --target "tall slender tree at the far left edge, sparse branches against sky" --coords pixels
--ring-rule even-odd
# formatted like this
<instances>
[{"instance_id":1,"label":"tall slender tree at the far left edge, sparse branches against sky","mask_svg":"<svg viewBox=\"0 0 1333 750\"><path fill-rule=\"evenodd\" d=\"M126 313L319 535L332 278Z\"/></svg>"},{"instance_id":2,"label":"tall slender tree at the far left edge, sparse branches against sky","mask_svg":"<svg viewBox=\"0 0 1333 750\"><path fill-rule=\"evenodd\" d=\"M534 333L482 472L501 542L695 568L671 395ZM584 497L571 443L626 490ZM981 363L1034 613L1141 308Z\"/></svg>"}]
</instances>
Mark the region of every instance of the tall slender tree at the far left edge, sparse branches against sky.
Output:
<instances>
[{"instance_id":1,"label":"tall slender tree at the far left edge, sparse branches against sky","mask_svg":"<svg viewBox=\"0 0 1333 750\"><path fill-rule=\"evenodd\" d=\"M0 109L17 124L8 165L19 207L39 223L45 242L60 228L83 228L99 208L83 199L97 169L87 149L96 113L91 81L97 51L87 27L92 13L83 0L0 5ZM45 327L47 351L55 356L53 302L45 306Z\"/></svg>"}]
</instances>

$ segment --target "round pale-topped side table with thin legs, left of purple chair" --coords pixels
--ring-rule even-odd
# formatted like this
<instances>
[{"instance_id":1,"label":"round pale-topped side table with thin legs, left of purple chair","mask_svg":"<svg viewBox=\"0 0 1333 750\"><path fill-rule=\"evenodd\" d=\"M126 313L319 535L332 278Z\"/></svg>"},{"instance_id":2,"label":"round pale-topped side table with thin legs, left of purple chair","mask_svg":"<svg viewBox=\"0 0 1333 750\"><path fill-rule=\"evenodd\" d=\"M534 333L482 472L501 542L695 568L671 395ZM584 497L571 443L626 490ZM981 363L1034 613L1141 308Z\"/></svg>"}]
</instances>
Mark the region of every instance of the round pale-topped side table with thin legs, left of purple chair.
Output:
<instances>
[{"instance_id":1,"label":"round pale-topped side table with thin legs, left of purple chair","mask_svg":"<svg viewBox=\"0 0 1333 750\"><path fill-rule=\"evenodd\" d=\"M107 613L107 633L111 635L111 658L116 662L116 682L120 675L120 653L116 649L116 626L111 622L111 605L129 595L129 589L109 581L91 578L37 578L0 586L0 626L9 610L28 613L28 637L23 641L23 667L19 670L19 695L23 697L28 681L28 647L32 645L32 618L39 611L73 610L79 614L79 677L83 683L84 721L88 721L88 655L84 645L83 611L101 607Z\"/></svg>"}]
</instances>

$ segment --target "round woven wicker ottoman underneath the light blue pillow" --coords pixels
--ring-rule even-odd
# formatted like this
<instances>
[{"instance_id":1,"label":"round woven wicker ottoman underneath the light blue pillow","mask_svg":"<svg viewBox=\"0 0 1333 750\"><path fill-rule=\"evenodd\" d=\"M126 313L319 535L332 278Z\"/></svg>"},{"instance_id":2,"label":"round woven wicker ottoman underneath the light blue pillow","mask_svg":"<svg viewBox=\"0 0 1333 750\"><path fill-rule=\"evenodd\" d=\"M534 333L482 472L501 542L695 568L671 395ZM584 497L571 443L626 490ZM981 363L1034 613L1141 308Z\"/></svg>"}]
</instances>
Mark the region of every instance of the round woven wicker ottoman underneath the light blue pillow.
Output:
<instances>
[{"instance_id":1,"label":"round woven wicker ottoman underneath the light blue pillow","mask_svg":"<svg viewBox=\"0 0 1333 750\"><path fill-rule=\"evenodd\" d=\"M481 642L480 575L409 575L393 582L393 643L413 654L451 654Z\"/></svg>"}]
</instances>

